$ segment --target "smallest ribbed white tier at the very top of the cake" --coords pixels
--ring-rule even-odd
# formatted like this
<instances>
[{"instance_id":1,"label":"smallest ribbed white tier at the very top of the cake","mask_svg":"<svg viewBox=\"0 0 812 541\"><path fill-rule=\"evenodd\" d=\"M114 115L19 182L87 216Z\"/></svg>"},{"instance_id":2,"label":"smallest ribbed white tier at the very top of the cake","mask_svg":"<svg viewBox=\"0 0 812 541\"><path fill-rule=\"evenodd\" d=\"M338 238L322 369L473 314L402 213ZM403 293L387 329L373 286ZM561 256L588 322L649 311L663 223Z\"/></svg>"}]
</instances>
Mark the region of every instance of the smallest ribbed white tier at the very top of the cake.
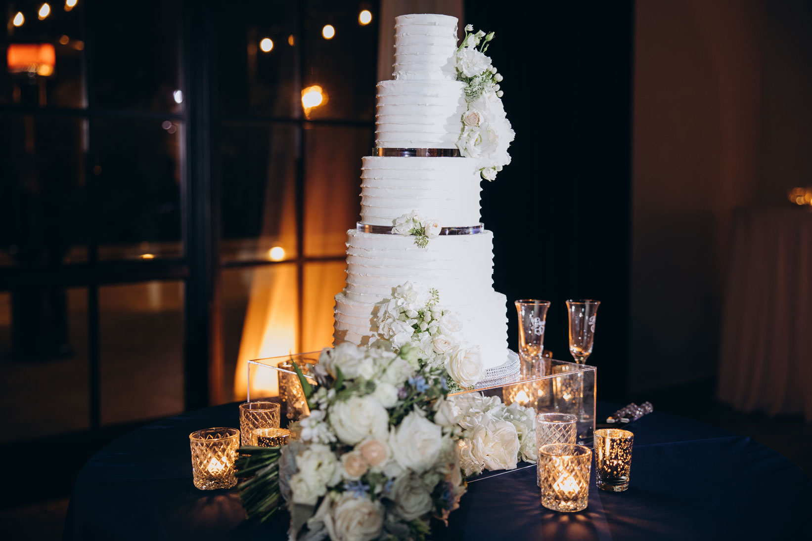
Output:
<instances>
[{"instance_id":1,"label":"smallest ribbed white tier at the very top of the cake","mask_svg":"<svg viewBox=\"0 0 812 541\"><path fill-rule=\"evenodd\" d=\"M395 79L454 80L457 19L449 15L395 17Z\"/></svg>"}]
</instances>

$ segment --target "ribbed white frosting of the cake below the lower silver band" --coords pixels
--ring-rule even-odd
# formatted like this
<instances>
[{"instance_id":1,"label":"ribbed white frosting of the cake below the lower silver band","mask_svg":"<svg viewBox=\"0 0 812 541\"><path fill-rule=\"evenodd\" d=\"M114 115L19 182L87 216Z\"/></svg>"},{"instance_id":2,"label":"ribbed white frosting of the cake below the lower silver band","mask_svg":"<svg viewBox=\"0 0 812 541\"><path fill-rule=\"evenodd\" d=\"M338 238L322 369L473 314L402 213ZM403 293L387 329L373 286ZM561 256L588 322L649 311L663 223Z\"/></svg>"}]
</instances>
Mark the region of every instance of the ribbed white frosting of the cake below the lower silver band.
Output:
<instances>
[{"instance_id":1,"label":"ribbed white frosting of the cake below the lower silver band","mask_svg":"<svg viewBox=\"0 0 812 541\"><path fill-rule=\"evenodd\" d=\"M453 158L434 158L448 159ZM433 287L440 305L463 321L461 338L480 346L486 368L505 362L507 299L493 289L493 234L414 238L348 231L347 287L335 298L335 343L368 344L375 305L406 281Z\"/></svg>"}]
</instances>

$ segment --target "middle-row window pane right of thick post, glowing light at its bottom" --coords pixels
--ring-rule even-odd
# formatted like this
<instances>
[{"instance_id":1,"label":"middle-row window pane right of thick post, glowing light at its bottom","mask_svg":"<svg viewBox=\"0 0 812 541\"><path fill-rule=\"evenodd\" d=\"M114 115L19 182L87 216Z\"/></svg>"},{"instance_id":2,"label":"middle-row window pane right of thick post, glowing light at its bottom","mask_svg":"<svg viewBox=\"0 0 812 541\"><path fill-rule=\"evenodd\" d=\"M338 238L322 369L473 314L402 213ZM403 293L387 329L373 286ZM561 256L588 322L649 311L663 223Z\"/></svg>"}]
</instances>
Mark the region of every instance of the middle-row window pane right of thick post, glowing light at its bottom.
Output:
<instances>
[{"instance_id":1,"label":"middle-row window pane right of thick post, glowing light at its bottom","mask_svg":"<svg viewBox=\"0 0 812 541\"><path fill-rule=\"evenodd\" d=\"M296 128L222 126L222 260L296 257Z\"/></svg>"}]
</instances>

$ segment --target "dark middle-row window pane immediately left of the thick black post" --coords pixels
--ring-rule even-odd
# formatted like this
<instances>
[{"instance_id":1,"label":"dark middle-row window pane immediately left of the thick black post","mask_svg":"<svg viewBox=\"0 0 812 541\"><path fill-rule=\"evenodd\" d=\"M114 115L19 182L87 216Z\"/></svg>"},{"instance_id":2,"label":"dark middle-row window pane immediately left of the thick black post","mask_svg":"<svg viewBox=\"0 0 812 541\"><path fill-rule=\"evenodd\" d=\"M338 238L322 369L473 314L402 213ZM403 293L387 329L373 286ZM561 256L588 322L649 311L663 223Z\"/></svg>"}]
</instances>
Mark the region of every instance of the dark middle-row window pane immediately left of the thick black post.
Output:
<instances>
[{"instance_id":1,"label":"dark middle-row window pane immediately left of the thick black post","mask_svg":"<svg viewBox=\"0 0 812 541\"><path fill-rule=\"evenodd\" d=\"M183 125L159 120L95 122L100 260L183 254L179 141Z\"/></svg>"}]
</instances>

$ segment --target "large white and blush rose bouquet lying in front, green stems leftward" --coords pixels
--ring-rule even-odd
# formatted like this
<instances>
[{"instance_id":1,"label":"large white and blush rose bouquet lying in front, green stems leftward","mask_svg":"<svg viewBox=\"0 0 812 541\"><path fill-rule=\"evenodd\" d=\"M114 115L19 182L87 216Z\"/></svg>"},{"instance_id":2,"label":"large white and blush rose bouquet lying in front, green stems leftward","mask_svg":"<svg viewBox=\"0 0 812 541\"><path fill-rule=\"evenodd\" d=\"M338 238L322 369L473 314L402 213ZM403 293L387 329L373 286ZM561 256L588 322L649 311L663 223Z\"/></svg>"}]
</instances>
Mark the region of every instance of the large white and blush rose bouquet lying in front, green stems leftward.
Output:
<instances>
[{"instance_id":1,"label":"large white and blush rose bouquet lying in front, green stems leftward","mask_svg":"<svg viewBox=\"0 0 812 541\"><path fill-rule=\"evenodd\" d=\"M431 517L447 520L465 492L460 429L442 369L414 353L341 344L322 352L315 387L294 363L311 413L296 441L240 449L248 516L284 500L289 539L308 541L425 539Z\"/></svg>"}]
</instances>

